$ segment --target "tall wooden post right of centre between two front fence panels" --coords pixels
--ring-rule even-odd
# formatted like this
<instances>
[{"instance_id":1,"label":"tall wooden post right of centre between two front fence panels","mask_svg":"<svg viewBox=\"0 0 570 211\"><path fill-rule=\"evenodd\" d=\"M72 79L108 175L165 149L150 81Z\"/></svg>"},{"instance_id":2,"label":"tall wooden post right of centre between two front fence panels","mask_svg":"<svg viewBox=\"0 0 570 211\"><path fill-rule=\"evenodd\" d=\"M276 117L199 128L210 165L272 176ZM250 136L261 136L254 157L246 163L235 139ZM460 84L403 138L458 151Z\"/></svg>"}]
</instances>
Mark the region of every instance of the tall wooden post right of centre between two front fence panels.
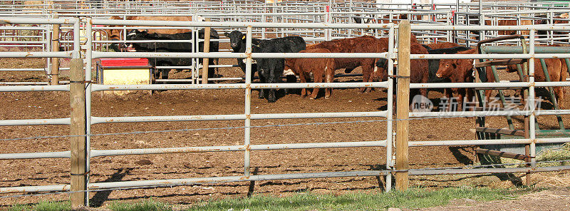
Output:
<instances>
[{"instance_id":1,"label":"tall wooden post right of centre between two front fence panels","mask_svg":"<svg viewBox=\"0 0 570 211\"><path fill-rule=\"evenodd\" d=\"M410 21L398 28L398 96L396 96L396 190L408 189L408 117L410 108Z\"/></svg>"}]
</instances>

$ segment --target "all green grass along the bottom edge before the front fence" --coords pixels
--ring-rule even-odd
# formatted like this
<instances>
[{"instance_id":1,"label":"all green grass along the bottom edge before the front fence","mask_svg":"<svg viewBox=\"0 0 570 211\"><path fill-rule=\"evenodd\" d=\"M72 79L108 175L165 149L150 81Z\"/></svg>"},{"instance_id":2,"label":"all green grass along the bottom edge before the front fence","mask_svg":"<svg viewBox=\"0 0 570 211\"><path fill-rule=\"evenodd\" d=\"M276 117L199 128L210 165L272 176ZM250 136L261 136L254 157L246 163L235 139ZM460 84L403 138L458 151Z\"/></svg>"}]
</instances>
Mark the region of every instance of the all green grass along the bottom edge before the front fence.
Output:
<instances>
[{"instance_id":1,"label":"all green grass along the bottom edge before the front fence","mask_svg":"<svg viewBox=\"0 0 570 211\"><path fill-rule=\"evenodd\" d=\"M254 195L246 198L212 200L194 205L193 210L385 210L388 207L416 209L447 205L450 200L471 199L480 202L513 199L536 191L532 187L492 189L488 187L449 187L441 190L412 188L405 192L352 192L345 195L297 192L289 197ZM152 199L139 202L111 202L113 211L172 211L172 205ZM69 202L40 202L36 205L13 205L9 211L67 211Z\"/></svg>"}]
</instances>

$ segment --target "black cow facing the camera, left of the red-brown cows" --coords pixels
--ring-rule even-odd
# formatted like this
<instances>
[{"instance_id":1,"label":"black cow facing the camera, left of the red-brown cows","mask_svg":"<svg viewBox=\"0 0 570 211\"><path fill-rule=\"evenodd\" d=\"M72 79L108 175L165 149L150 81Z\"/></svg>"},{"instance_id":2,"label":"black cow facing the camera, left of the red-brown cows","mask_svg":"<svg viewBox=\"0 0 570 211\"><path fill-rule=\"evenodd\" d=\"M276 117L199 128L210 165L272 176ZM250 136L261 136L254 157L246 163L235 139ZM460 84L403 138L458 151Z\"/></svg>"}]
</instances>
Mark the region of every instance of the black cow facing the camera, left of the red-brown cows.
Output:
<instances>
[{"instance_id":1,"label":"black cow facing the camera, left of the red-brown cows","mask_svg":"<svg viewBox=\"0 0 570 211\"><path fill-rule=\"evenodd\" d=\"M231 33L225 33L224 36L229 37L230 46L234 50L234 53L243 53L246 48L246 34L240 31L232 31ZM305 50L306 43L300 36L286 36L284 38L274 38L270 40L261 40L257 38L252 38L252 52L253 53L297 53L299 51ZM284 59L283 58L256 58L256 65L252 63L252 71L257 70L257 75L261 83L278 83L279 78L284 73ZM239 67L245 73L245 63L243 59L238 58L237 60ZM259 63L263 63L261 66ZM282 65L281 65L282 64ZM276 70L275 68L279 66L281 70ZM252 73L253 77L253 73ZM296 81L296 76L294 73L287 73L287 82L293 83ZM253 78L252 78L253 79ZM289 91L286 91L289 93ZM263 89L259 91L259 98L264 98L265 92ZM269 97L267 98L269 102L276 101L275 91L271 89L269 91Z\"/></svg>"}]
</instances>

